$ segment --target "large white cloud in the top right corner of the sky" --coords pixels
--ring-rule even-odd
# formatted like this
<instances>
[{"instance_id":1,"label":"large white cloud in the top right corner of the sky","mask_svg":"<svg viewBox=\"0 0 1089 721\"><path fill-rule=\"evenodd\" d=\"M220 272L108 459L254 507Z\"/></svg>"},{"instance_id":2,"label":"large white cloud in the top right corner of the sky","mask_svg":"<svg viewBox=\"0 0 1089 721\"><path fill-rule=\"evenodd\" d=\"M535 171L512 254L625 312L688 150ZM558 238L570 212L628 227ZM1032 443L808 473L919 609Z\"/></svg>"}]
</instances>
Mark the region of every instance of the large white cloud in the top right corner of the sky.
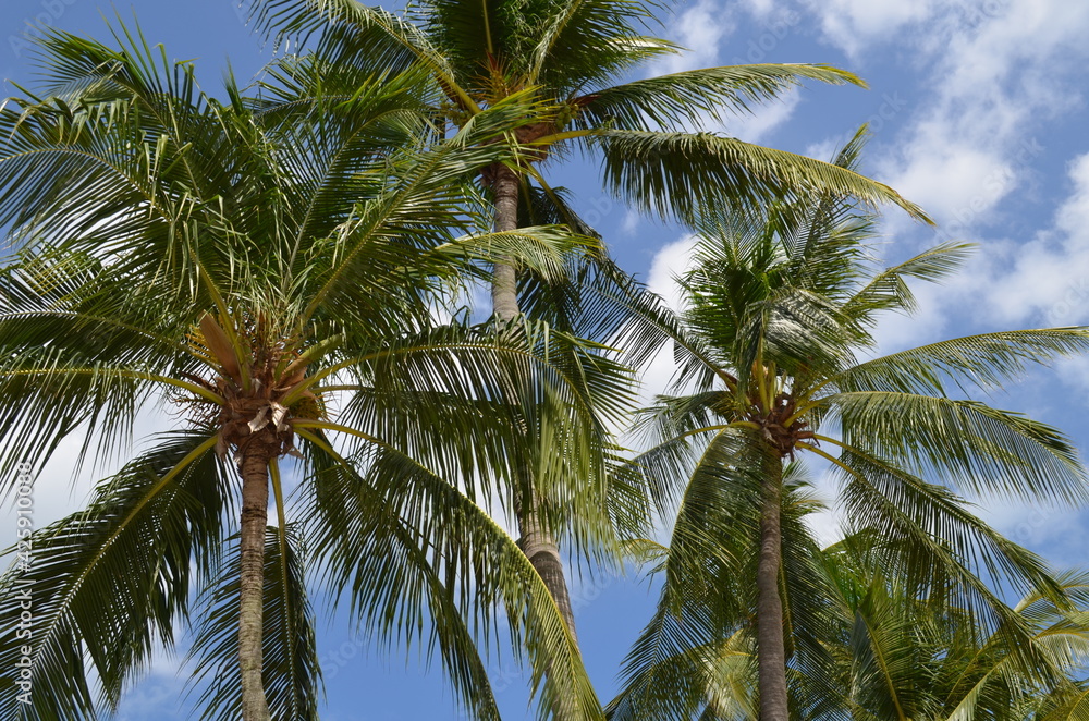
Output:
<instances>
[{"instance_id":1,"label":"large white cloud in the top right corner of the sky","mask_svg":"<svg viewBox=\"0 0 1089 721\"><path fill-rule=\"evenodd\" d=\"M818 9L818 15L832 22L828 17L843 3L857 4L837 0ZM929 68L930 98L896 138L880 175L956 234L1001 220L1001 201L1033 180L1033 161L1044 149L1033 138L1035 129L1080 106L1074 81L1089 57L1084 41L1089 5L1061 0L923 4L927 22L901 28L895 41ZM870 25L848 12L842 22L854 23L859 42L874 41L880 28L897 26L898 12Z\"/></svg>"}]
</instances>

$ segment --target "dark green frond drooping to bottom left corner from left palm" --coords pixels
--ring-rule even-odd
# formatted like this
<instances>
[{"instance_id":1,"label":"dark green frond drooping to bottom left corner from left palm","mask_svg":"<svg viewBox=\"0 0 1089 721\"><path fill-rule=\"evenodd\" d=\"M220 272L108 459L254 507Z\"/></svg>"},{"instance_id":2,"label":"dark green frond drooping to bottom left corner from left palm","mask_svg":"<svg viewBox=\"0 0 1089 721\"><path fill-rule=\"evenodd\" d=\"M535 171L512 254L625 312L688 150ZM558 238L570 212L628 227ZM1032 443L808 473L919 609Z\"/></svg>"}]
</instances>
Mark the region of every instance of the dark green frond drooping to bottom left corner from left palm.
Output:
<instances>
[{"instance_id":1,"label":"dark green frond drooping to bottom left corner from left palm","mask_svg":"<svg viewBox=\"0 0 1089 721\"><path fill-rule=\"evenodd\" d=\"M32 595L33 636L5 637L0 655L17 673L21 646L33 649L36 718L95 718L94 687L115 707L152 652L172 646L191 584L218 565L231 500L215 441L204 429L157 441L102 481L85 511L38 530L30 567L3 577L0 615L12 628L17 589ZM22 718L12 677L3 684L0 717Z\"/></svg>"}]
</instances>

